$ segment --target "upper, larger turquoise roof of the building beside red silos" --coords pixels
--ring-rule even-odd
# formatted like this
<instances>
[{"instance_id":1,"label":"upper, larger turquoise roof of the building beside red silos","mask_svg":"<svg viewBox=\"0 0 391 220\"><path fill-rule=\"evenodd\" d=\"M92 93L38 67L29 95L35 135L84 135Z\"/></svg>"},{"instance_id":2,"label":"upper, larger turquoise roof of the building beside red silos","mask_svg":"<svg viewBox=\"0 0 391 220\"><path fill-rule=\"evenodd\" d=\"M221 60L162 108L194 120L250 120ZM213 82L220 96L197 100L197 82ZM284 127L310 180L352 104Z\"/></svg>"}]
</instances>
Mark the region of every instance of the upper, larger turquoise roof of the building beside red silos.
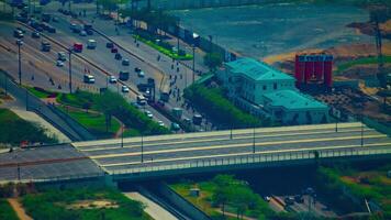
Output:
<instances>
[{"instance_id":1,"label":"upper, larger turquoise roof of the building beside red silos","mask_svg":"<svg viewBox=\"0 0 391 220\"><path fill-rule=\"evenodd\" d=\"M254 80L294 80L288 74L281 73L271 66L253 58L239 58L225 64L233 73L244 74Z\"/></svg>"}]
</instances>

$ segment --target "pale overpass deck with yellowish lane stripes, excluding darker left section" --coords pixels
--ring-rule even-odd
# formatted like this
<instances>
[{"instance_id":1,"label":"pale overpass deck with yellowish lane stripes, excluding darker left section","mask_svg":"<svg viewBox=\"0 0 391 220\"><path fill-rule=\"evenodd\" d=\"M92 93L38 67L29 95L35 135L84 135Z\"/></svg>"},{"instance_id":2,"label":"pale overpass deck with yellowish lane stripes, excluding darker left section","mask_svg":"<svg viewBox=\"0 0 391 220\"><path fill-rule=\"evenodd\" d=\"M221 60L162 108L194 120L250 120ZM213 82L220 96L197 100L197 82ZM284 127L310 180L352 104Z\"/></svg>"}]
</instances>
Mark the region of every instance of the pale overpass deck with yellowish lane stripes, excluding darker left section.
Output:
<instances>
[{"instance_id":1,"label":"pale overpass deck with yellowish lane stripes, excluding darker left section","mask_svg":"<svg viewBox=\"0 0 391 220\"><path fill-rule=\"evenodd\" d=\"M362 142L362 145L361 145ZM272 129L148 136L79 142L72 145L107 172L139 167L180 165L254 154L313 152L322 150L391 147L391 140L360 123L284 127Z\"/></svg>"}]
</instances>

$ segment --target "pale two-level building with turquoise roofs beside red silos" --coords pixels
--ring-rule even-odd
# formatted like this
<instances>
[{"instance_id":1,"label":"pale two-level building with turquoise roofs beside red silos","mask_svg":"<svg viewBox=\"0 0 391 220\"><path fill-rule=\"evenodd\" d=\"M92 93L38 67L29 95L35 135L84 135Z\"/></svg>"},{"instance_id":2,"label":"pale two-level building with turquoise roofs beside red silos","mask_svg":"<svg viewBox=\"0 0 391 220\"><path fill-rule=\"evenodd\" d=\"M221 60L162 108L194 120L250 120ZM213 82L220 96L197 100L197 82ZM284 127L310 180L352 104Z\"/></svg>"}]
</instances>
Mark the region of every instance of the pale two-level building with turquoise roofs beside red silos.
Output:
<instances>
[{"instance_id":1,"label":"pale two-level building with turquoise roofs beside red silos","mask_svg":"<svg viewBox=\"0 0 391 220\"><path fill-rule=\"evenodd\" d=\"M239 58L224 67L216 76L227 96L250 113L286 124L327 122L327 106L298 91L290 75L253 58Z\"/></svg>"}]
</instances>

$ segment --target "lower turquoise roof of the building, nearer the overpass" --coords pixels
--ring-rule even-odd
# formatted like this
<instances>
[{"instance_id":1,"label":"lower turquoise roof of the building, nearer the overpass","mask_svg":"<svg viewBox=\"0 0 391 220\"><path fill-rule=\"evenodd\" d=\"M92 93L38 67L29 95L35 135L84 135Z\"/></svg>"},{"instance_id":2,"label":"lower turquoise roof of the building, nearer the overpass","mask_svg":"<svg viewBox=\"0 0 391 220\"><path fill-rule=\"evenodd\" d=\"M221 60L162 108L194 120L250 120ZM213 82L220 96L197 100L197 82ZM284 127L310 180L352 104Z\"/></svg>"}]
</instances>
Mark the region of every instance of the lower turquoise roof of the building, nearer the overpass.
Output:
<instances>
[{"instance_id":1,"label":"lower turquoise roof of the building, nearer the overpass","mask_svg":"<svg viewBox=\"0 0 391 220\"><path fill-rule=\"evenodd\" d=\"M272 107L283 107L289 110L327 108L326 105L295 90L280 90L269 92L264 95L264 97L271 101Z\"/></svg>"}]
</instances>

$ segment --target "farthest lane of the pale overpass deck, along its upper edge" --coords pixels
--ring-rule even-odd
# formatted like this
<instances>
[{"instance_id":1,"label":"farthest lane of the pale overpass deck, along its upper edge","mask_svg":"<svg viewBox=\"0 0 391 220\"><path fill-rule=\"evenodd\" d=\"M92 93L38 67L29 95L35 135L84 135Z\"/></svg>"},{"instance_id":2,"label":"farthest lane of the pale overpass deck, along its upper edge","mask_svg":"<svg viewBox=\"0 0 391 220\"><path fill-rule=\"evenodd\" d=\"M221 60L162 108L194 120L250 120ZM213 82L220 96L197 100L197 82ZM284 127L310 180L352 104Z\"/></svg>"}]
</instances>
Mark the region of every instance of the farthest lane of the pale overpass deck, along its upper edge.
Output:
<instances>
[{"instance_id":1,"label":"farthest lane of the pale overpass deck, along its upper edge","mask_svg":"<svg viewBox=\"0 0 391 220\"><path fill-rule=\"evenodd\" d=\"M338 132L351 132L351 131L358 131L361 130L361 127L359 125L354 125L353 127L347 127L347 128L339 128ZM364 131L373 131L372 129L364 128ZM244 133L245 132L245 133ZM257 131L255 132L255 135L259 136L270 136L270 135L280 135L280 136L295 136L295 135L302 135L302 134L323 134L323 133L332 133L335 132L334 128L323 128L323 127L313 127L311 130L300 130L297 127L292 127L288 130L275 130L275 131ZM208 134L208 135L204 135ZM254 133L253 131L249 130L242 130L242 131L233 131L232 133L233 139L242 139L242 138L253 138ZM228 140L231 139L231 133L230 131L219 131L219 132L209 132L209 133L197 133L190 134L190 135L181 135L181 138L177 138L177 135L171 134L171 135L160 135L160 136L152 136L152 138L157 138L157 140L150 140L149 138L144 138L144 144L152 145L152 144L174 144L177 142L203 142L203 141L210 141L212 139L214 140ZM125 147L132 146L132 145L137 145L141 142L141 138L132 138L132 139L125 139L124 140L124 145ZM99 144L91 144L88 146L77 146L80 151L93 151L93 150L99 150L99 148L110 148L110 147L116 147L116 143L99 143Z\"/></svg>"}]
</instances>

